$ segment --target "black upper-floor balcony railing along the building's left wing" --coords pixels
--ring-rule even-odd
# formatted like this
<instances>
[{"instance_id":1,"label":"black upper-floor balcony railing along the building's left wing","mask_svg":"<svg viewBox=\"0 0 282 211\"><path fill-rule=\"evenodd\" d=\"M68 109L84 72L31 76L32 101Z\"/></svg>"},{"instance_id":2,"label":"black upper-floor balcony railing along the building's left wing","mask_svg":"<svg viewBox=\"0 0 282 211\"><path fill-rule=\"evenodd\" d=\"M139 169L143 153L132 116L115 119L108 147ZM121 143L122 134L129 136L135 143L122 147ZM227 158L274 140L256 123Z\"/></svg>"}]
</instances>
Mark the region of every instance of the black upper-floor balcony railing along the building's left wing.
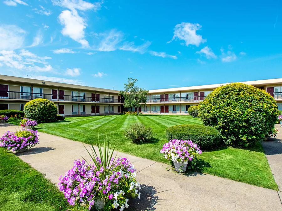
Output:
<instances>
[{"instance_id":1,"label":"black upper-floor balcony railing along the building's left wing","mask_svg":"<svg viewBox=\"0 0 282 211\"><path fill-rule=\"evenodd\" d=\"M0 99L32 100L36 98L43 98L52 101L67 101L67 102L121 103L121 99L113 99L113 98L100 98L100 97L97 98L97 97L73 96L73 95L0 91Z\"/></svg>"}]
</instances>

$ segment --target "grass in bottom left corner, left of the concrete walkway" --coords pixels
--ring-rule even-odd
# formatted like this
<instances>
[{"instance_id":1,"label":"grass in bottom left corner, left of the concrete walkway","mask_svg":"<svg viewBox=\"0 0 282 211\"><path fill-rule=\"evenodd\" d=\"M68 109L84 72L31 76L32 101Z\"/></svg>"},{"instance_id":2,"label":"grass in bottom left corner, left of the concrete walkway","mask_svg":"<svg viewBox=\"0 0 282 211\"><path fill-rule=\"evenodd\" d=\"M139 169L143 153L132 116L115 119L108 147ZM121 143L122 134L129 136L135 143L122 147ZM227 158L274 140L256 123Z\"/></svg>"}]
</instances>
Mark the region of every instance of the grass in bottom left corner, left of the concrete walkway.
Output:
<instances>
[{"instance_id":1,"label":"grass in bottom left corner, left of the concrete walkway","mask_svg":"<svg viewBox=\"0 0 282 211\"><path fill-rule=\"evenodd\" d=\"M63 193L13 153L0 148L0 210L67 210ZM80 207L74 210L82 210ZM85 209L87 210L87 209Z\"/></svg>"}]
</instances>

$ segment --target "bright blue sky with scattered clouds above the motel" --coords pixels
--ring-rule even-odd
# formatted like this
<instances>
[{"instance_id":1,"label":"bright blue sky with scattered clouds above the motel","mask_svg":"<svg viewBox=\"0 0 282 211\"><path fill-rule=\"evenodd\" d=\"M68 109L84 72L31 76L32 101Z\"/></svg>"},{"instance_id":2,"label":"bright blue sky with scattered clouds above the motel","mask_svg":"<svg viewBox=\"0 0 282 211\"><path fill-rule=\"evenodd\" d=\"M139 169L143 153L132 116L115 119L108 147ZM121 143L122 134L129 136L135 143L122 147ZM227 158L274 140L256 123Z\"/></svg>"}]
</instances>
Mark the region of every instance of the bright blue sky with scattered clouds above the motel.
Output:
<instances>
[{"instance_id":1,"label":"bright blue sky with scattered clouds above the motel","mask_svg":"<svg viewBox=\"0 0 282 211\"><path fill-rule=\"evenodd\" d=\"M282 78L281 1L1 0L0 74L123 89Z\"/></svg>"}]
</instances>

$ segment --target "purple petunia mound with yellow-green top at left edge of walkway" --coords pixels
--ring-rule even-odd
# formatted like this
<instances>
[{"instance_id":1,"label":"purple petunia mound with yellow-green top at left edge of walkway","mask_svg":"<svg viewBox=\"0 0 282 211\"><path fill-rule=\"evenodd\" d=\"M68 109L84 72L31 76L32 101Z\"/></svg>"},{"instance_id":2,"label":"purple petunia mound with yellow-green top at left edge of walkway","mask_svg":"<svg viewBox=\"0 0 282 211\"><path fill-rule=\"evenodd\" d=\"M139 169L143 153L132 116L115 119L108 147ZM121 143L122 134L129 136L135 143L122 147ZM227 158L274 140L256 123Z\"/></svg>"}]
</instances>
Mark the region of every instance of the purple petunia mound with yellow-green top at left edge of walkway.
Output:
<instances>
[{"instance_id":1,"label":"purple petunia mound with yellow-green top at left edge of walkway","mask_svg":"<svg viewBox=\"0 0 282 211\"><path fill-rule=\"evenodd\" d=\"M31 148L39 143L39 135L37 130L20 130L18 132L7 131L2 138L0 138L0 147L18 151L23 148Z\"/></svg>"}]
</instances>

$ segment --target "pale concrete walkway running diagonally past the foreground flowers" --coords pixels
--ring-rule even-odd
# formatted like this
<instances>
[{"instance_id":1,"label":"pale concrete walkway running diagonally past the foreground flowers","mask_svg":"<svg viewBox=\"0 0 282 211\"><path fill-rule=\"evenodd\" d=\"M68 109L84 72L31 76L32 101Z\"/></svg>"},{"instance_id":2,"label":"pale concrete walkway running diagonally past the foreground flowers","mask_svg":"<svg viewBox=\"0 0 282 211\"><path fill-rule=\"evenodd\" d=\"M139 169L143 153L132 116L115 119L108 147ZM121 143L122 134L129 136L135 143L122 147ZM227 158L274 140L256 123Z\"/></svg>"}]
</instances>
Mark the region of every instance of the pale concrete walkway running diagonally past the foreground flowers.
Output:
<instances>
[{"instance_id":1,"label":"pale concrete walkway running diagonally past the foreground flowers","mask_svg":"<svg viewBox=\"0 0 282 211\"><path fill-rule=\"evenodd\" d=\"M0 133L18 127L0 124ZM40 144L18 156L53 183L73 166L74 159L89 158L83 144L39 133ZM277 191L209 174L179 175L168 165L132 155L141 184L141 199L130 199L129 210L282 210ZM282 196L282 195L281 195ZM282 198L282 197L281 197Z\"/></svg>"}]
</instances>

